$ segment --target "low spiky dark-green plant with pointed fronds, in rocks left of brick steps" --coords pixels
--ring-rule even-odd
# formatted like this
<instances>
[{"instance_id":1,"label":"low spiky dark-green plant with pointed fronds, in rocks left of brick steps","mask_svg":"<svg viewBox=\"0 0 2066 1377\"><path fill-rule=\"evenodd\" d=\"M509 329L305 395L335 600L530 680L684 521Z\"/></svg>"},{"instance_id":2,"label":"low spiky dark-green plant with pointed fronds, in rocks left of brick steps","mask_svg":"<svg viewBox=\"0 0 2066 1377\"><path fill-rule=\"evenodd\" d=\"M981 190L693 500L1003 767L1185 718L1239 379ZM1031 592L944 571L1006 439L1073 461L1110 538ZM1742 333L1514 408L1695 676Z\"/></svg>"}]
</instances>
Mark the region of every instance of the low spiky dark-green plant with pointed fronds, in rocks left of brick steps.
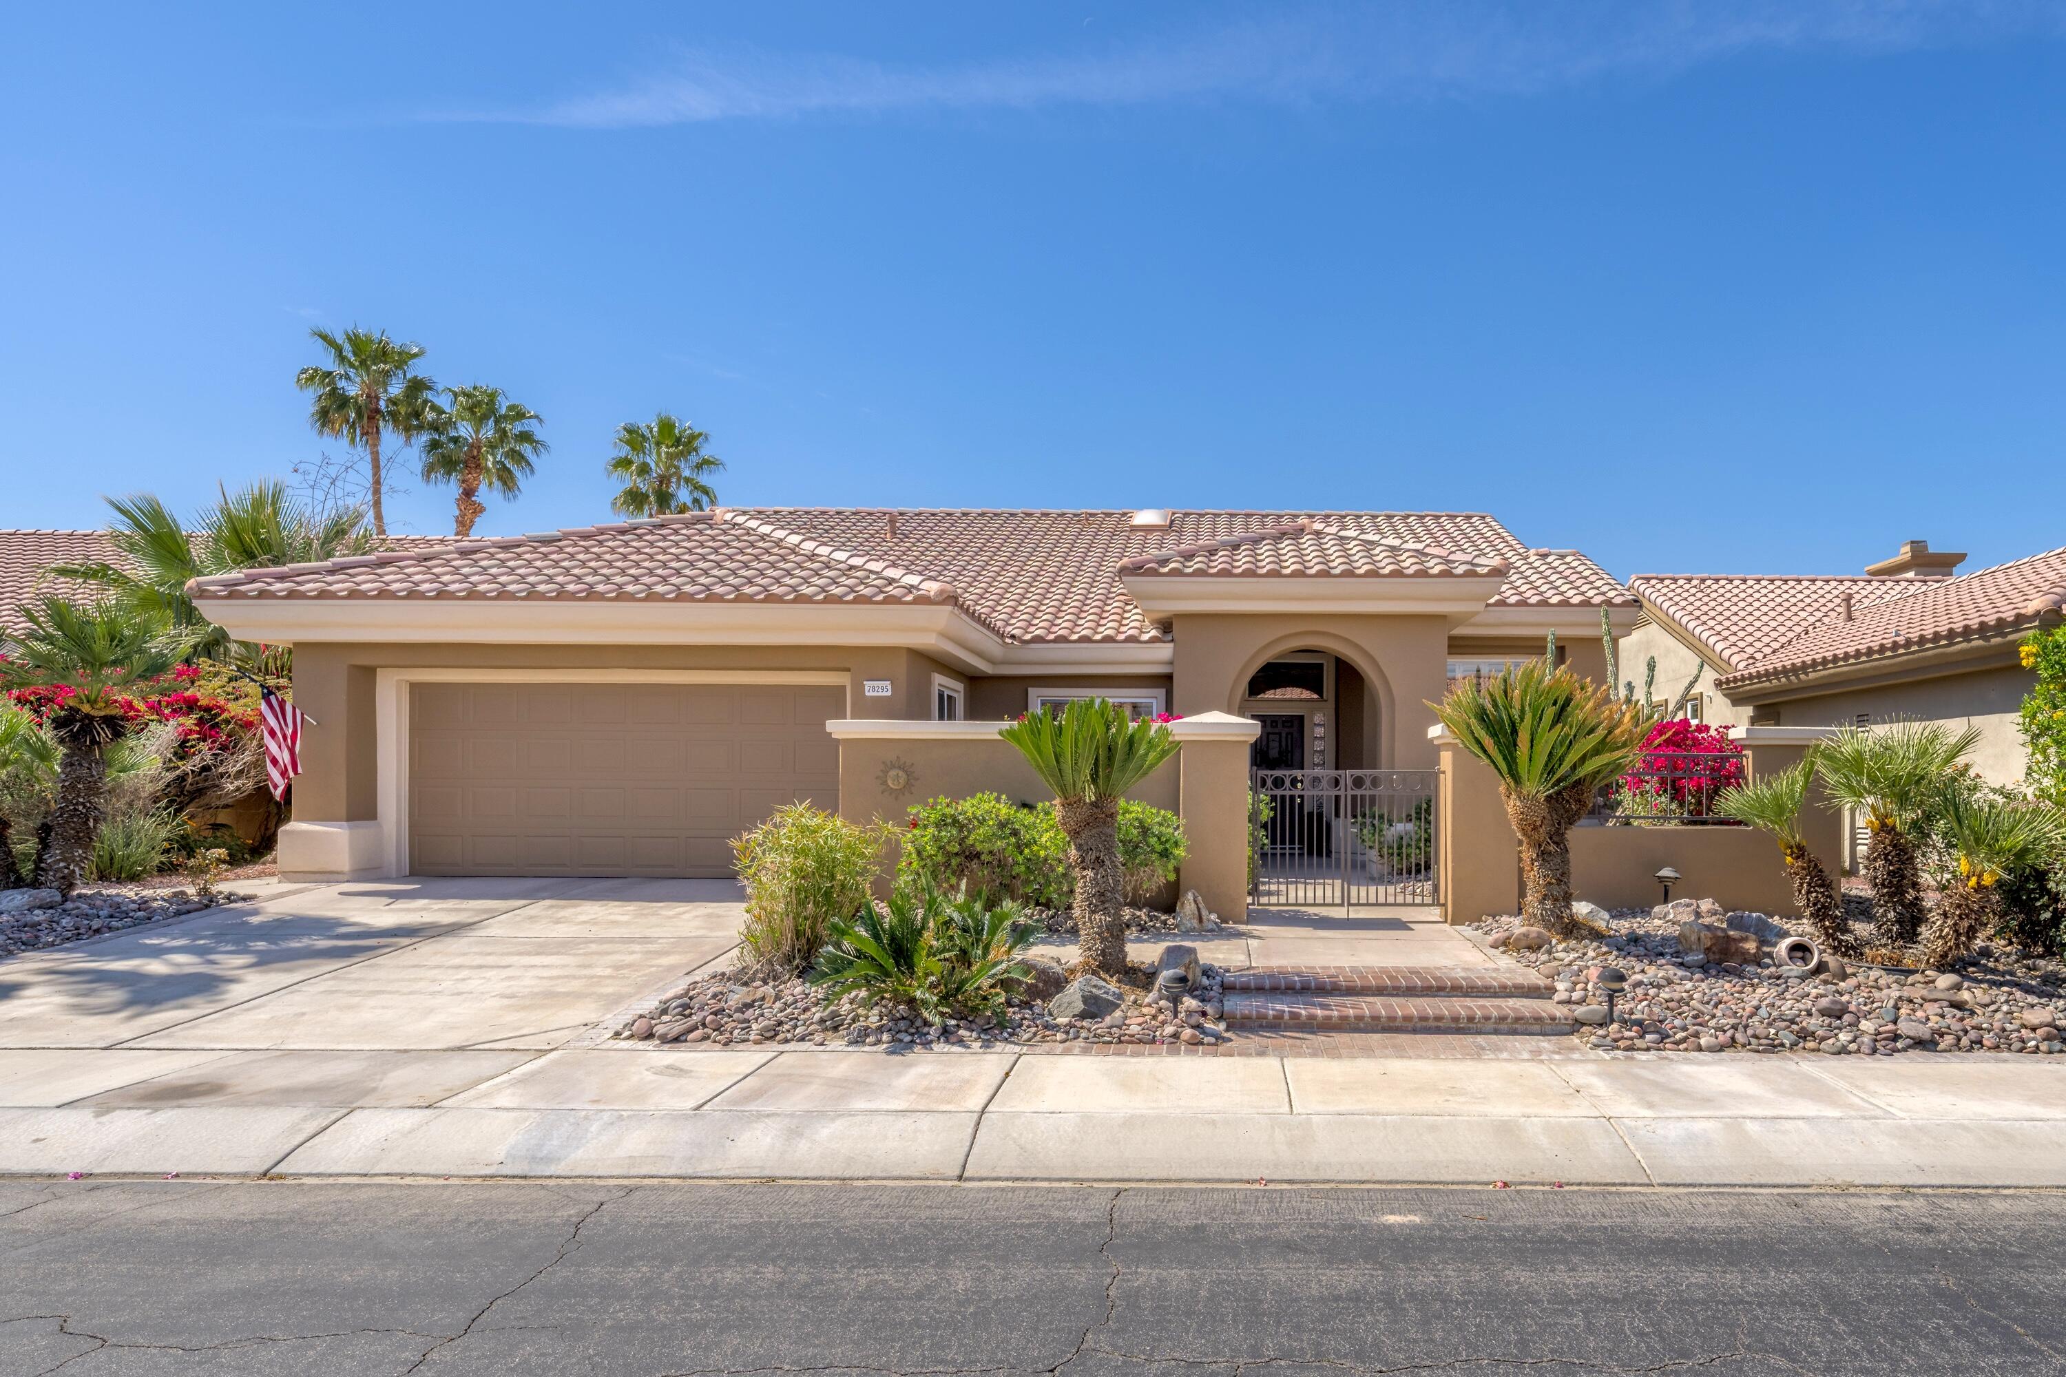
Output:
<instances>
[{"instance_id":1,"label":"low spiky dark-green plant with pointed fronds, in rocks left of brick steps","mask_svg":"<svg viewBox=\"0 0 2066 1377\"><path fill-rule=\"evenodd\" d=\"M1012 987L1025 981L1019 954L1033 927L1016 904L990 906L981 896L946 898L932 886L899 886L878 910L835 921L818 952L812 985L831 997L903 1003L938 1026L948 1018L1004 1016Z\"/></svg>"}]
</instances>

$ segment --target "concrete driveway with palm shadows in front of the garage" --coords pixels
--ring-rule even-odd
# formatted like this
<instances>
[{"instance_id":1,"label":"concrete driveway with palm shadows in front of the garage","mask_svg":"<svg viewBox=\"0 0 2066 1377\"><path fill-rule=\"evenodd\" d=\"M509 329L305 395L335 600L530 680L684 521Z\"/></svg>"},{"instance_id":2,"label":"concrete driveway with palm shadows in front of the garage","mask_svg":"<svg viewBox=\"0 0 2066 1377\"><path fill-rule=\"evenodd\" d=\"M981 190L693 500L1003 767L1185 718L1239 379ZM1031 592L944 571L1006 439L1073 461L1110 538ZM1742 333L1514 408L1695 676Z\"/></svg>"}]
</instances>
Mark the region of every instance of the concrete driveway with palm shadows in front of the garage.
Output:
<instances>
[{"instance_id":1,"label":"concrete driveway with palm shadows in front of the garage","mask_svg":"<svg viewBox=\"0 0 2066 1377\"><path fill-rule=\"evenodd\" d=\"M0 964L0 1047L552 1049L738 941L723 879L390 879Z\"/></svg>"}]
</instances>

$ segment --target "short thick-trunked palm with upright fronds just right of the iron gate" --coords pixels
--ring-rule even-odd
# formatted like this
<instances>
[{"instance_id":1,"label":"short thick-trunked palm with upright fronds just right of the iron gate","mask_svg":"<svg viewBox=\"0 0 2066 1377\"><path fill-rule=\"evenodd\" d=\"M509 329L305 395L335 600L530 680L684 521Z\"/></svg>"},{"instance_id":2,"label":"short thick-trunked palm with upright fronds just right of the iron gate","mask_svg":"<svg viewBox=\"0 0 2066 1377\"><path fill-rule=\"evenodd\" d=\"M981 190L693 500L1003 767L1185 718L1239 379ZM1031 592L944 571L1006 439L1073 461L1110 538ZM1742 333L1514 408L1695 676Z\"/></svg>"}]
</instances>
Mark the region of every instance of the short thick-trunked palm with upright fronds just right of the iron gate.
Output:
<instances>
[{"instance_id":1,"label":"short thick-trunked palm with upright fronds just right of the iron gate","mask_svg":"<svg viewBox=\"0 0 2066 1377\"><path fill-rule=\"evenodd\" d=\"M1603 784L1636 766L1651 710L1537 659L1485 681L1463 679L1428 706L1500 778L1506 820L1521 840L1523 915L1552 933L1578 935L1570 828Z\"/></svg>"}]
</instances>

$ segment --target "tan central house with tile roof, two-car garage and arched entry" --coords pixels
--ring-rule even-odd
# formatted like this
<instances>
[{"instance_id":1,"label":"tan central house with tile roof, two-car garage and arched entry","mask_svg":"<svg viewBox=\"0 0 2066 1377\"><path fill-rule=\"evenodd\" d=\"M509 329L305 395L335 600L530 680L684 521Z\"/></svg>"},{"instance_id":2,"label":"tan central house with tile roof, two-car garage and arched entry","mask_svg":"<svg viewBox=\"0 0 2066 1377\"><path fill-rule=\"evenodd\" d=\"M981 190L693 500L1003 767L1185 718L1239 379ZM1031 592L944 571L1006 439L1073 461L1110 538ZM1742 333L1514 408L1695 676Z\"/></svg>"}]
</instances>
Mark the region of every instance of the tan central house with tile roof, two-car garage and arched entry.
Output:
<instances>
[{"instance_id":1,"label":"tan central house with tile roof, two-car garage and arched entry","mask_svg":"<svg viewBox=\"0 0 2066 1377\"><path fill-rule=\"evenodd\" d=\"M1432 768L1450 679L1549 632L1597 677L1601 609L1636 615L1585 555L1452 512L727 508L194 599L295 646L302 875L725 875L779 803L917 801L876 799L903 766L843 780L828 723L979 731L1085 696L1250 716L1271 768Z\"/></svg>"}]
</instances>

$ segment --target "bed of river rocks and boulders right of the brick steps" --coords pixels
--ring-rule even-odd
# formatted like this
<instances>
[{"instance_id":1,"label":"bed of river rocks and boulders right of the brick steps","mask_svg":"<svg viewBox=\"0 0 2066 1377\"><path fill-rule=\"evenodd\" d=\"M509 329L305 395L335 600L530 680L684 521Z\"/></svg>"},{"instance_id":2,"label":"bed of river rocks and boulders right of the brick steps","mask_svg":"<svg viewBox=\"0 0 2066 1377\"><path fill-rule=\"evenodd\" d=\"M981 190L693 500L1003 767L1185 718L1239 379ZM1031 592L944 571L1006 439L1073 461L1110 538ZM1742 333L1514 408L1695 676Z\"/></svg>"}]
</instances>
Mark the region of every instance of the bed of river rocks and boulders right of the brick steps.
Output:
<instances>
[{"instance_id":1,"label":"bed of river rocks and boulders right of the brick steps","mask_svg":"<svg viewBox=\"0 0 2066 1377\"><path fill-rule=\"evenodd\" d=\"M1855 917L1855 915L1853 915ZM2058 1005L2066 966L2049 956L1981 943L1959 970L1905 970L1826 958L1820 972L1775 966L1771 954L1715 962L1680 946L1682 929L1756 939L1787 933L1766 915L1729 915L1713 900L1676 900L1611 915L1607 937L1533 946L1519 917L1475 927L1492 948L1556 983L1554 999L1576 1020L1576 1038L1597 1051L1888 1055L1971 1051L2062 1055ZM1870 929L1868 929L1870 931ZM1547 933L1543 933L1547 937ZM1731 943L1729 948L1738 948ZM1601 972L1626 972L1607 1020Z\"/></svg>"}]
</instances>

